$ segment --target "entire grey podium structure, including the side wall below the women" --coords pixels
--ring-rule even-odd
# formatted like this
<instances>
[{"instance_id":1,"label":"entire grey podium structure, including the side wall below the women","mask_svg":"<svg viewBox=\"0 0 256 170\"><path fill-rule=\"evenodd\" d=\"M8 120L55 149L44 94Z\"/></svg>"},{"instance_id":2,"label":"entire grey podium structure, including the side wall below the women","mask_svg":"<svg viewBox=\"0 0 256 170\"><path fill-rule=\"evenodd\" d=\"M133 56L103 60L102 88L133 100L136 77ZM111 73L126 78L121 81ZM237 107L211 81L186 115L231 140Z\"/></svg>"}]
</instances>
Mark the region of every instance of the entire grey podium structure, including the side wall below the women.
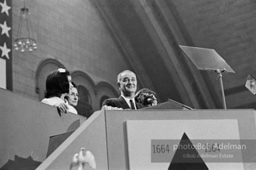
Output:
<instances>
[{"instance_id":1,"label":"entire grey podium structure, including the side wall below the women","mask_svg":"<svg viewBox=\"0 0 256 170\"><path fill-rule=\"evenodd\" d=\"M99 110L84 121L74 114L59 117L55 108L12 92L0 89L0 93L9 96L0 102L0 169L15 155L40 161L37 169L69 169L81 147L93 153L97 169L169 169L181 160L179 149L173 150L173 145L186 143L184 139L193 144L245 143L245 150L225 152L232 151L236 159L202 157L202 163L208 169L256 168L255 110ZM32 106L28 104L34 107L22 107ZM80 126L74 128L77 120ZM74 131L47 157L49 138L67 133L67 129ZM169 153L163 154L167 148L161 146L166 143ZM197 149L197 153L202 154L202 150Z\"/></svg>"}]
</instances>

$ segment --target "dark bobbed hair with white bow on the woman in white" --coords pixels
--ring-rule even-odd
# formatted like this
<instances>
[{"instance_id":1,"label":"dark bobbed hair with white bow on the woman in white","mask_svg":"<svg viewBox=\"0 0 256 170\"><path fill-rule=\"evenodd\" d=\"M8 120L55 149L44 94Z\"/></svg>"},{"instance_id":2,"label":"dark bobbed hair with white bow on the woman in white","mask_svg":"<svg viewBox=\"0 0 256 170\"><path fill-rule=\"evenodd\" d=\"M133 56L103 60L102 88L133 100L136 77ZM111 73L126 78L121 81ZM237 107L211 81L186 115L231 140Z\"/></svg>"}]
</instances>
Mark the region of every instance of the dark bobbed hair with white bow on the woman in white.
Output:
<instances>
[{"instance_id":1,"label":"dark bobbed hair with white bow on the woman in white","mask_svg":"<svg viewBox=\"0 0 256 170\"><path fill-rule=\"evenodd\" d=\"M45 98L69 93L69 80L67 76L70 76L70 73L63 68L50 72L45 82Z\"/></svg>"}]
</instances>

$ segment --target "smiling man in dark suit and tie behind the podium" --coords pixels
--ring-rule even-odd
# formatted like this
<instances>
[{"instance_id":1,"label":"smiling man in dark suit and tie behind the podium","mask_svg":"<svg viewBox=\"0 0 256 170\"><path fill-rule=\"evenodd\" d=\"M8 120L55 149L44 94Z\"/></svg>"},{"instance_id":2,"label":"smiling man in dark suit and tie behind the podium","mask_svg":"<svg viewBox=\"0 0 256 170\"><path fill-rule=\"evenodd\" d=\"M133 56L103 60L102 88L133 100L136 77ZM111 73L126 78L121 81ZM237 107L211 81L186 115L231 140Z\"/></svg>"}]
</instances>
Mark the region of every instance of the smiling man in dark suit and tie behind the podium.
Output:
<instances>
[{"instance_id":1,"label":"smiling man in dark suit and tie behind the podium","mask_svg":"<svg viewBox=\"0 0 256 170\"><path fill-rule=\"evenodd\" d=\"M119 98L109 98L102 104L105 110L138 110L145 108L142 104L135 102L135 92L137 90L137 78L134 72L125 70L117 76L117 86L121 91Z\"/></svg>"}]
</instances>

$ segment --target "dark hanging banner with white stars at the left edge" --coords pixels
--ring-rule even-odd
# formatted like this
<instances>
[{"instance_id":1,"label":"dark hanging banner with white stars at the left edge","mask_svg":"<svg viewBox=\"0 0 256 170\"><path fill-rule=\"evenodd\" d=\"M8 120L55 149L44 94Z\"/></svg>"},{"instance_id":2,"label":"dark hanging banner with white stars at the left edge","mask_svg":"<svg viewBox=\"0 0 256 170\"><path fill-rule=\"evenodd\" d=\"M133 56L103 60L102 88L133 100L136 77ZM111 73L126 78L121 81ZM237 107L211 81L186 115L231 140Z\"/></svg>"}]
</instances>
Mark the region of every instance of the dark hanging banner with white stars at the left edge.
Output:
<instances>
[{"instance_id":1,"label":"dark hanging banner with white stars at the left edge","mask_svg":"<svg viewBox=\"0 0 256 170\"><path fill-rule=\"evenodd\" d=\"M0 0L0 88L12 90L11 0Z\"/></svg>"}]
</instances>

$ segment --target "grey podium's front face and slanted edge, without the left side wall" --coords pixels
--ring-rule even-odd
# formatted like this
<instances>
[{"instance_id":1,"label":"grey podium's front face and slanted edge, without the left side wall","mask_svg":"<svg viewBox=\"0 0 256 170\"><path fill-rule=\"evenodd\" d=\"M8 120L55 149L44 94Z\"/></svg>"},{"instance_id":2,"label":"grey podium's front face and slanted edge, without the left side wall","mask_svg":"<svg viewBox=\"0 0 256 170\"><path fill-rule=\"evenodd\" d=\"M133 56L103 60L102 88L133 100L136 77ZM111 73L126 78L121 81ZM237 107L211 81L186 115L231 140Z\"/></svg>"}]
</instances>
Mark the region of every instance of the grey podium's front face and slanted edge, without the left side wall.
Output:
<instances>
[{"instance_id":1,"label":"grey podium's front face and slanted edge, without the left side wall","mask_svg":"<svg viewBox=\"0 0 256 170\"><path fill-rule=\"evenodd\" d=\"M192 142L196 139L254 141L255 110L97 111L37 169L68 169L72 155L80 147L95 155L97 169L168 169L175 152L167 157L169 162L152 160L151 142L180 140L184 132ZM247 161L255 155L241 151L236 154L235 162L203 160L209 169L256 167L254 160Z\"/></svg>"}]
</instances>

